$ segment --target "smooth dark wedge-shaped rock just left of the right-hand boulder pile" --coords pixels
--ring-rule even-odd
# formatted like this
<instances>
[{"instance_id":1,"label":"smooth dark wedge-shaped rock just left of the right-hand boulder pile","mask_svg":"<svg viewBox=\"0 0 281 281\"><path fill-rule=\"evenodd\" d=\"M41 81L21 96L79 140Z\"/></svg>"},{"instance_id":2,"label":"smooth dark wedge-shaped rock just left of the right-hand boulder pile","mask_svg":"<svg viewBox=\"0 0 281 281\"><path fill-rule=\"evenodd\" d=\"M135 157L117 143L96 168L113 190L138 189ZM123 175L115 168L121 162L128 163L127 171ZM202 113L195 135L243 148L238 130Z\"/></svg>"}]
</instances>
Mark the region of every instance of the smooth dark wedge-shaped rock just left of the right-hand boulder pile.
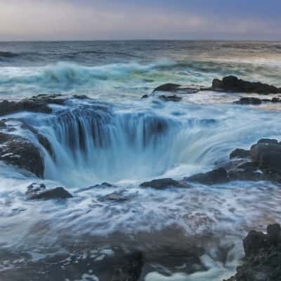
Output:
<instances>
[{"instance_id":1,"label":"smooth dark wedge-shaped rock just left of the right-hand boulder pile","mask_svg":"<svg viewBox=\"0 0 281 281\"><path fill-rule=\"evenodd\" d=\"M196 174L190 176L189 178L184 178L185 181L194 181L203 184L216 184L216 183L226 183L230 180L226 169L219 168L209 171L204 174Z\"/></svg>"}]
</instances>

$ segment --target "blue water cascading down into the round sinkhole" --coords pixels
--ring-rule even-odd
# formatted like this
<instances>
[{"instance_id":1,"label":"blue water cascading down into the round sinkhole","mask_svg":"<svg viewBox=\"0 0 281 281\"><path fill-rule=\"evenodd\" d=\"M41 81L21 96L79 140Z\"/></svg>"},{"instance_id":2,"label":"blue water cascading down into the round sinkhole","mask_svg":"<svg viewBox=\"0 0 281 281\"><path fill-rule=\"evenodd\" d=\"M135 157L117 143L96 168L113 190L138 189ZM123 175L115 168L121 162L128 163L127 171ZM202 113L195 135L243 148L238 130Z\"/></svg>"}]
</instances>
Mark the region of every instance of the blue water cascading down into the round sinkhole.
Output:
<instances>
[{"instance_id":1,"label":"blue water cascading down into the round sinkhole","mask_svg":"<svg viewBox=\"0 0 281 281\"><path fill-rule=\"evenodd\" d=\"M63 110L39 126L55 154L55 160L46 155L45 176L69 186L161 176L175 164L189 162L181 153L190 133L196 135L194 127L203 130L213 123L185 124L152 112L114 113L104 105ZM191 153L189 158L192 162Z\"/></svg>"}]
</instances>

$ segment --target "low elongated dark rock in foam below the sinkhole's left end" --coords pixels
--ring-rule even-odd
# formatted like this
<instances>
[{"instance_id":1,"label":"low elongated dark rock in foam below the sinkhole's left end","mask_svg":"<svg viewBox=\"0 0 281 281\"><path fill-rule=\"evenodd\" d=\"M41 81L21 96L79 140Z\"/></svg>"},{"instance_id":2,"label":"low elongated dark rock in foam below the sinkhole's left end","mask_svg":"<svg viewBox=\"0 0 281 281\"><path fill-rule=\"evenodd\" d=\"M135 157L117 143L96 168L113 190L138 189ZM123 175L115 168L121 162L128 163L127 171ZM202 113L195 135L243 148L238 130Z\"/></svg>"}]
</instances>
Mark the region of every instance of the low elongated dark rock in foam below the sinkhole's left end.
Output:
<instances>
[{"instance_id":1,"label":"low elongated dark rock in foam below the sinkhole's left end","mask_svg":"<svg viewBox=\"0 0 281 281\"><path fill-rule=\"evenodd\" d=\"M65 188L43 189L36 192L30 192L29 200L52 200L52 199L67 199L73 197Z\"/></svg>"}]
</instances>

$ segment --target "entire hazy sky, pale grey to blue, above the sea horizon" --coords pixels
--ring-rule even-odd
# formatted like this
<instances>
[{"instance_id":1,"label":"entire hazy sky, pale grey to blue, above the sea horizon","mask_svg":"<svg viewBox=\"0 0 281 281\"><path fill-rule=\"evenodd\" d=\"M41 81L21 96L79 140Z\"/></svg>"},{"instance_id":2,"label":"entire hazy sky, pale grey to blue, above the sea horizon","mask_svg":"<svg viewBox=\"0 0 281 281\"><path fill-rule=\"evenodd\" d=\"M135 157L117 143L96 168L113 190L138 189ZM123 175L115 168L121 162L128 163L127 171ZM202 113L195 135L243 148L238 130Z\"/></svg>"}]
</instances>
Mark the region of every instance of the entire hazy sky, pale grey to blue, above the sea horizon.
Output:
<instances>
[{"instance_id":1,"label":"entire hazy sky, pale grey to blue, above the sea horizon","mask_svg":"<svg viewBox=\"0 0 281 281\"><path fill-rule=\"evenodd\" d=\"M280 0L0 0L0 40L280 40L280 15Z\"/></svg>"}]
</instances>

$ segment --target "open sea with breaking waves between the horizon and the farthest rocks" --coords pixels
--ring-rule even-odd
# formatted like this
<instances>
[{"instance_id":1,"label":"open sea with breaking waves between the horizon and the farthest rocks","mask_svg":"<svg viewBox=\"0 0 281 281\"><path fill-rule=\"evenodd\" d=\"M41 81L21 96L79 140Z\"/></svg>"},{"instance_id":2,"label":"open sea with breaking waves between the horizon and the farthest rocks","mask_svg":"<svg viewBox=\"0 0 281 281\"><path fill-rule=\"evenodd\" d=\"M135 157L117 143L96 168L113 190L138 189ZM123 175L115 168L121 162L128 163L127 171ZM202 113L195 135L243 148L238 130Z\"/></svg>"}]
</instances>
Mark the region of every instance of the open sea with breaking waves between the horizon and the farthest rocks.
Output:
<instances>
[{"instance_id":1,"label":"open sea with breaking waves between the horizon and the farthest rocks","mask_svg":"<svg viewBox=\"0 0 281 281\"><path fill-rule=\"evenodd\" d=\"M167 81L209 85L228 74L281 86L280 60L277 42L7 42L0 43L0 95L127 99Z\"/></svg>"}]
</instances>

